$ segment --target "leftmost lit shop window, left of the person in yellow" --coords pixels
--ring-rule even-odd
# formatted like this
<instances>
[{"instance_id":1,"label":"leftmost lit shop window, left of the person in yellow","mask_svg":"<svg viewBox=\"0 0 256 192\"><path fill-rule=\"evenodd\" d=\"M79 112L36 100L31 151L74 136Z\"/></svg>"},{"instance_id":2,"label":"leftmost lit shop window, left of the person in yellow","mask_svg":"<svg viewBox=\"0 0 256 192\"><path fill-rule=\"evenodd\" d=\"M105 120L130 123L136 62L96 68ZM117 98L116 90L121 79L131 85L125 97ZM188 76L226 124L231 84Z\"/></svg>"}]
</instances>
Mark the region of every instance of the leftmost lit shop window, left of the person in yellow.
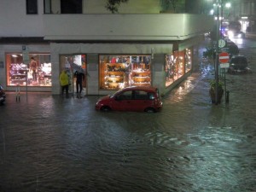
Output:
<instances>
[{"instance_id":1,"label":"leftmost lit shop window, left of the person in yellow","mask_svg":"<svg viewBox=\"0 0 256 192\"><path fill-rule=\"evenodd\" d=\"M6 54L7 85L51 86L49 54L29 54L30 63L23 63L22 54Z\"/></svg>"}]
</instances>

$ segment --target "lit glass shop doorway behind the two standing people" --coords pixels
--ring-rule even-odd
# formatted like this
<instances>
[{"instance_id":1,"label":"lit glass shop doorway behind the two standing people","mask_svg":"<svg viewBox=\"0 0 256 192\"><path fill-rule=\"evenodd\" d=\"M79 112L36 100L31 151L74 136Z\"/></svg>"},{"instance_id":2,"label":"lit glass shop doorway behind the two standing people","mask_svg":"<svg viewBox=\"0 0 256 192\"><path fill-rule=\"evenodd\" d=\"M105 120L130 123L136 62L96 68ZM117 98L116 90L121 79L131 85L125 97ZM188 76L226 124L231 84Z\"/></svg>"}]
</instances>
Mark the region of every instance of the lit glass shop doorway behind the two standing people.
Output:
<instances>
[{"instance_id":1,"label":"lit glass shop doorway behind the two standing people","mask_svg":"<svg viewBox=\"0 0 256 192\"><path fill-rule=\"evenodd\" d=\"M86 55L61 55L60 56L61 70L67 71L69 79L69 92L73 93L77 89L76 72L84 73L86 77ZM83 89L86 87L86 78L82 82Z\"/></svg>"}]
</instances>

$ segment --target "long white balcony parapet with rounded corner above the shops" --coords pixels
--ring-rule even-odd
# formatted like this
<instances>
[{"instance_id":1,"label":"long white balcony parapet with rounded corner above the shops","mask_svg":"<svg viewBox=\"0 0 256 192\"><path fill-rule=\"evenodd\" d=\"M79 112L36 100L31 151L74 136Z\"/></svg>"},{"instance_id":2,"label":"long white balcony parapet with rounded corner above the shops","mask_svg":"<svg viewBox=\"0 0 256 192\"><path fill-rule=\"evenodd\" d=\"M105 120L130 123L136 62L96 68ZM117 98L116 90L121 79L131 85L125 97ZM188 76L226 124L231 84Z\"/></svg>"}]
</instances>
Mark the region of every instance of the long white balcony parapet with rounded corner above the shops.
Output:
<instances>
[{"instance_id":1,"label":"long white balcony parapet with rounded corner above the shops","mask_svg":"<svg viewBox=\"0 0 256 192\"><path fill-rule=\"evenodd\" d=\"M44 15L44 39L52 41L172 41L212 31L208 15Z\"/></svg>"}]
</instances>

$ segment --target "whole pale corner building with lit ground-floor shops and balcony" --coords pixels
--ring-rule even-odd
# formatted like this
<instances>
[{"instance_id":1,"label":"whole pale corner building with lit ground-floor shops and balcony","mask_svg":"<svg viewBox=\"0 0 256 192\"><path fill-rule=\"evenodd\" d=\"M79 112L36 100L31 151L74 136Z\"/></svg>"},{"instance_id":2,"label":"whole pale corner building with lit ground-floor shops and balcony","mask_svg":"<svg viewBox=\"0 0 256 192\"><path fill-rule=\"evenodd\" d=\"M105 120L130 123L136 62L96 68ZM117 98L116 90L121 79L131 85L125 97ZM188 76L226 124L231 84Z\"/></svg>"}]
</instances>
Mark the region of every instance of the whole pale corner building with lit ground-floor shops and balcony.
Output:
<instances>
[{"instance_id":1,"label":"whole pale corner building with lit ground-floor shops and balcony","mask_svg":"<svg viewBox=\"0 0 256 192\"><path fill-rule=\"evenodd\" d=\"M164 95L192 72L203 34L213 26L207 15L160 14L157 0L130 0L119 14L110 14L105 1L72 2L1 1L0 83L6 90L60 94L65 69L71 92L73 73L80 71L85 95L128 85L154 85Z\"/></svg>"}]
</instances>

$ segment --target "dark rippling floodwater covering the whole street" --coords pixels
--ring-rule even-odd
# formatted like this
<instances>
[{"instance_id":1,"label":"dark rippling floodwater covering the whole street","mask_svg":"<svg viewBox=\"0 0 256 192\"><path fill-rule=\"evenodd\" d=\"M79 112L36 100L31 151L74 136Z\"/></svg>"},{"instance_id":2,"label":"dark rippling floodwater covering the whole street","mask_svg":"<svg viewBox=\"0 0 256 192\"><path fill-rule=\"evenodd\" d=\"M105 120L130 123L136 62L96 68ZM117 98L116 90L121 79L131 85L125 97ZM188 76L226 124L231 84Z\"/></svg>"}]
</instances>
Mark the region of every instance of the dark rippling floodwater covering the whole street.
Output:
<instances>
[{"instance_id":1,"label":"dark rippling floodwater covering the whole street","mask_svg":"<svg viewBox=\"0 0 256 192\"><path fill-rule=\"evenodd\" d=\"M230 102L208 96L213 66L163 98L160 113L101 113L99 96L15 93L0 107L0 191L256 191L253 73L226 74Z\"/></svg>"}]
</instances>

